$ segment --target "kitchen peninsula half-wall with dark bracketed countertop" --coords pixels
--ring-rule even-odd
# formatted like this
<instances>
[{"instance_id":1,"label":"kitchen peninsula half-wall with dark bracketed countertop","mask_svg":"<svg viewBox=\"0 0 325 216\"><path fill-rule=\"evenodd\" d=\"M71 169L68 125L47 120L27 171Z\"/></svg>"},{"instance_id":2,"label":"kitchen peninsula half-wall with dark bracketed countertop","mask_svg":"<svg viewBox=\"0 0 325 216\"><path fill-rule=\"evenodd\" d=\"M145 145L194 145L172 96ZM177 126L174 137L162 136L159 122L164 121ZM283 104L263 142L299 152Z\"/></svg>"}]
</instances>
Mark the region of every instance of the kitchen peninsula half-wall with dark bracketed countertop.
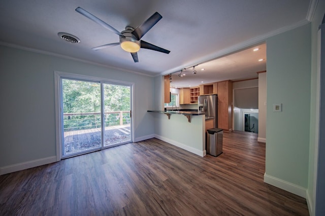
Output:
<instances>
[{"instance_id":1,"label":"kitchen peninsula half-wall with dark bracketed countertop","mask_svg":"<svg viewBox=\"0 0 325 216\"><path fill-rule=\"evenodd\" d=\"M159 122L155 128L157 139L202 157L206 155L204 112L173 110L148 110L147 112L152 113L154 120Z\"/></svg>"}]
</instances>

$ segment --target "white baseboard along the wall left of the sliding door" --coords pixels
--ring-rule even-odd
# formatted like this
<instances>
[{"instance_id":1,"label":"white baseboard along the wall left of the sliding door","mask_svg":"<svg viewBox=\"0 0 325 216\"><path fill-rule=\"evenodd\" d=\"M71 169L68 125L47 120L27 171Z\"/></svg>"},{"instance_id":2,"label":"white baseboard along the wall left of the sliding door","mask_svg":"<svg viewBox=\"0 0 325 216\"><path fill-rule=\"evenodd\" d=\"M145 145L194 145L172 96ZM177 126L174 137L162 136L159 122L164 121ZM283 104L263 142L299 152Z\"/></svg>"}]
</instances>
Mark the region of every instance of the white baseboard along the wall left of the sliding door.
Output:
<instances>
[{"instance_id":1,"label":"white baseboard along the wall left of the sliding door","mask_svg":"<svg viewBox=\"0 0 325 216\"><path fill-rule=\"evenodd\" d=\"M20 171L23 169L29 169L36 166L41 166L49 163L56 162L56 156L41 158L37 160L30 160L23 163L16 163L9 166L0 167L0 176L8 174L10 172Z\"/></svg>"}]
</instances>

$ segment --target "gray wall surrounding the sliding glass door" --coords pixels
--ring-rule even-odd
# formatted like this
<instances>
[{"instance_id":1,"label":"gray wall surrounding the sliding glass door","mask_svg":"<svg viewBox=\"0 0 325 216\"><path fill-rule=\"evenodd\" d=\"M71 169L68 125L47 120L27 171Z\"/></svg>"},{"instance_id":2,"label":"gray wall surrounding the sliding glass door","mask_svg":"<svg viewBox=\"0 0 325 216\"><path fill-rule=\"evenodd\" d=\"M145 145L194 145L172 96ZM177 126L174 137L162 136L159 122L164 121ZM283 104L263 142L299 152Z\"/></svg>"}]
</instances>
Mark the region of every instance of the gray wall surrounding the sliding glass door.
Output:
<instances>
[{"instance_id":1,"label":"gray wall surrounding the sliding glass door","mask_svg":"<svg viewBox=\"0 0 325 216\"><path fill-rule=\"evenodd\" d=\"M153 78L0 46L0 168L56 155L54 71L134 82L134 135L154 134Z\"/></svg>"}]
</instances>

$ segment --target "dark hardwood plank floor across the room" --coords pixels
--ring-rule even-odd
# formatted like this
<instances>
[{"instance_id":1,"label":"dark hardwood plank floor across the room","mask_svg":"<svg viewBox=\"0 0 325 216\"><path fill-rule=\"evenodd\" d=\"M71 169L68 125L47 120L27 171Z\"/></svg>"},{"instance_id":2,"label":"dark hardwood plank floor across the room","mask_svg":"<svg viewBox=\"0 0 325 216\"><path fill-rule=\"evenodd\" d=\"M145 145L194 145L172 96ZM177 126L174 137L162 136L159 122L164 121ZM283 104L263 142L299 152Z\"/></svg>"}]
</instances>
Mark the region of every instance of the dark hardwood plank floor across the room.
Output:
<instances>
[{"instance_id":1,"label":"dark hardwood plank floor across the room","mask_svg":"<svg viewBox=\"0 0 325 216\"><path fill-rule=\"evenodd\" d=\"M224 133L218 157L150 139L0 176L0 215L309 214L264 172L253 133Z\"/></svg>"}]
</instances>

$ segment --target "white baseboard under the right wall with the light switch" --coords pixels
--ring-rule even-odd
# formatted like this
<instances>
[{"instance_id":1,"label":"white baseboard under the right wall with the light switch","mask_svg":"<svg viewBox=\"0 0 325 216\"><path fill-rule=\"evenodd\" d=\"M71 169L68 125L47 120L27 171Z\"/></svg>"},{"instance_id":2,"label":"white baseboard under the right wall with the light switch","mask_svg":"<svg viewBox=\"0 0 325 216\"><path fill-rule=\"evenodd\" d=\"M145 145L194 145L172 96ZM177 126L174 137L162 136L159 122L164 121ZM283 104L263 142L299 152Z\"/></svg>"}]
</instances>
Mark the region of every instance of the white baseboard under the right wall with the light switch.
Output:
<instances>
[{"instance_id":1,"label":"white baseboard under the right wall with the light switch","mask_svg":"<svg viewBox=\"0 0 325 216\"><path fill-rule=\"evenodd\" d=\"M269 176L267 174L264 174L264 182L268 183L269 185L273 185L277 188L281 188L281 189L288 191L290 193L301 196L303 198L306 198L307 189L303 188L301 186L294 185L292 183L283 181L282 179L278 179L273 176Z\"/></svg>"}]
</instances>

